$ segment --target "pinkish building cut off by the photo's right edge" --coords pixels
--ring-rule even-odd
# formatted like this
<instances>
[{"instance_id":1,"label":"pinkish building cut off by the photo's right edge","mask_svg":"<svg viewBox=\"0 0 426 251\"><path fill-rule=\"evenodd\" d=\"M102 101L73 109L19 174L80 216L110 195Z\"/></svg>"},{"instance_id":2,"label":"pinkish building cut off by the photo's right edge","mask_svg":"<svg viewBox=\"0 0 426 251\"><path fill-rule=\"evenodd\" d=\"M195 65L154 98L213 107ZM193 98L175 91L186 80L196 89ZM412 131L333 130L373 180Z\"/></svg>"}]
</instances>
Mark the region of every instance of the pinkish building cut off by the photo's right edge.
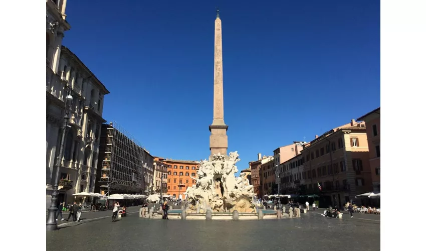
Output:
<instances>
[{"instance_id":1,"label":"pinkish building cut off by the photo's right edge","mask_svg":"<svg viewBox=\"0 0 426 251\"><path fill-rule=\"evenodd\" d=\"M367 131L368 149L370 150L371 180L373 191L380 192L380 107L359 117L364 120Z\"/></svg>"}]
</instances>

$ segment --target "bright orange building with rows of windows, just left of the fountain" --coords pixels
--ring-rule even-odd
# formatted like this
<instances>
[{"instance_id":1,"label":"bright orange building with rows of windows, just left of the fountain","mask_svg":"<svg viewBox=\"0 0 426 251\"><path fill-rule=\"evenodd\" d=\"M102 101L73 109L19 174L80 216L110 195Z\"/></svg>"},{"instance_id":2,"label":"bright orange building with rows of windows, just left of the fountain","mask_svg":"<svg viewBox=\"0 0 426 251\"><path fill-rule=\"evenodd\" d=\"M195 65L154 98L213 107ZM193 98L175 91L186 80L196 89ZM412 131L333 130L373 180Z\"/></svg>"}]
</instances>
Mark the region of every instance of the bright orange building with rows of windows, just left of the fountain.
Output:
<instances>
[{"instance_id":1,"label":"bright orange building with rows of windows, just left of the fountain","mask_svg":"<svg viewBox=\"0 0 426 251\"><path fill-rule=\"evenodd\" d=\"M185 199L183 193L189 186L196 183L192 178L197 178L198 162L160 157L154 157L154 160L167 165L167 195L174 196L176 199Z\"/></svg>"}]
</instances>

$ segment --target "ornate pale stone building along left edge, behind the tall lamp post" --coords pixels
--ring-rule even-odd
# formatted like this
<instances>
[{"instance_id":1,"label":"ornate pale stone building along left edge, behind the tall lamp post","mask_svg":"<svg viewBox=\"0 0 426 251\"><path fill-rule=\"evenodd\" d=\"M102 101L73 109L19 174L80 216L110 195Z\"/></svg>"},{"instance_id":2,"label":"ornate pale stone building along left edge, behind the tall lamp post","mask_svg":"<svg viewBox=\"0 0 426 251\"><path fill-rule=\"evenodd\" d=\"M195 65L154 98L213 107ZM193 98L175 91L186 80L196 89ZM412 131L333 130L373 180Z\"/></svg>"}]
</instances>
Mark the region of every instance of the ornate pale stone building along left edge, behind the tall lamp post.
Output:
<instances>
[{"instance_id":1,"label":"ornate pale stone building along left edge, behind the tall lamp post","mask_svg":"<svg viewBox=\"0 0 426 251\"><path fill-rule=\"evenodd\" d=\"M99 152L103 97L109 91L83 62L61 45L70 29L65 21L66 1L46 1L46 203L50 205L57 165L59 200L71 194L93 192ZM57 160L64 116L68 114L62 160Z\"/></svg>"}]
</instances>

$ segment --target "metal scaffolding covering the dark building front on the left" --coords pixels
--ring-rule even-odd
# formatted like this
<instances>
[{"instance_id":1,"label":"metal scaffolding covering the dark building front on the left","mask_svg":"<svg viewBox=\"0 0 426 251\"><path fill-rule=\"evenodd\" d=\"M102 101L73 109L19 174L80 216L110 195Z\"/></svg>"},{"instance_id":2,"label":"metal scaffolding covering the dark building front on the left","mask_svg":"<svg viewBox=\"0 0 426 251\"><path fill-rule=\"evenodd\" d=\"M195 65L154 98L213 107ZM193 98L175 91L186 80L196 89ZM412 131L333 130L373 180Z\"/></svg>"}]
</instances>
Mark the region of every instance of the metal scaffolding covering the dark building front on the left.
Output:
<instances>
[{"instance_id":1,"label":"metal scaffolding covering the dark building front on the left","mask_svg":"<svg viewBox=\"0 0 426 251\"><path fill-rule=\"evenodd\" d=\"M142 191L143 148L117 122L102 124L101 144L105 144L100 177L101 193L106 194L108 184L112 190L125 192Z\"/></svg>"}]
</instances>

